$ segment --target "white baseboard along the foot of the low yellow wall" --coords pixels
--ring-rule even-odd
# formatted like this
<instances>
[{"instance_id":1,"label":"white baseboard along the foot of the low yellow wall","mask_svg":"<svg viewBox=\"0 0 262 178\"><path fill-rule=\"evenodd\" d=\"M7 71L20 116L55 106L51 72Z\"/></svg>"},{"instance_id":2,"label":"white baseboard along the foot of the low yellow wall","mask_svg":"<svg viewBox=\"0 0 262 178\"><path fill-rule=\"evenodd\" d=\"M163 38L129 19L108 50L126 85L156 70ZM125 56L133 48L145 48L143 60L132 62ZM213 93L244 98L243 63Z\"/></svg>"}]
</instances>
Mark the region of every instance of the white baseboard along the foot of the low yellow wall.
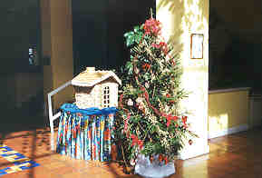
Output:
<instances>
[{"instance_id":1,"label":"white baseboard along the foot of the low yellow wall","mask_svg":"<svg viewBox=\"0 0 262 178\"><path fill-rule=\"evenodd\" d=\"M248 125L247 124L242 124L236 127L231 127L225 130L221 130L221 131L215 131L215 132L211 132L209 133L209 139L210 138L216 138L218 136L224 136L227 134L235 134L235 133L239 133L242 131L247 131L248 130Z\"/></svg>"}]
</instances>

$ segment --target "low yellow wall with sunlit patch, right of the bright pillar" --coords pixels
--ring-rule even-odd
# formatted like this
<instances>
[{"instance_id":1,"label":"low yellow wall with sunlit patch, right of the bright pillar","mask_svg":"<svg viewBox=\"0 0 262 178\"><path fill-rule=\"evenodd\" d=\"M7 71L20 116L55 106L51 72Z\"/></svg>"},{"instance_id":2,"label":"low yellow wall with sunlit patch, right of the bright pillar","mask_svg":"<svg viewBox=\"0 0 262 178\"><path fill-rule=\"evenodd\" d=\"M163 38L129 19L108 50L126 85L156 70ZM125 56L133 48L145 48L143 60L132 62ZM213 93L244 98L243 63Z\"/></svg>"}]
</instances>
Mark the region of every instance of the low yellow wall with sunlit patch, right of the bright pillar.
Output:
<instances>
[{"instance_id":1,"label":"low yellow wall with sunlit patch, right of the bright pillar","mask_svg":"<svg viewBox=\"0 0 262 178\"><path fill-rule=\"evenodd\" d=\"M209 135L248 124L248 89L211 91Z\"/></svg>"}]
</instances>

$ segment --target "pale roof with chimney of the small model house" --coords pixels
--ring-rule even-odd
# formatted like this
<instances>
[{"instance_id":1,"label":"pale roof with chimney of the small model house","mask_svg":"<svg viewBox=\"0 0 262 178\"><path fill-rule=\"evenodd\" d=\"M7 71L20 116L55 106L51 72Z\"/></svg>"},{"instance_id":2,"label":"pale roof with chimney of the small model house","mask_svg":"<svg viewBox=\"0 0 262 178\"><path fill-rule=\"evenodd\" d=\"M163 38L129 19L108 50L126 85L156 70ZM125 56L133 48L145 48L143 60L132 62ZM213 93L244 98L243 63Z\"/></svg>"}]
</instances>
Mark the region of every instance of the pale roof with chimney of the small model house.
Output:
<instances>
[{"instance_id":1,"label":"pale roof with chimney of the small model house","mask_svg":"<svg viewBox=\"0 0 262 178\"><path fill-rule=\"evenodd\" d=\"M95 71L94 67L86 67L86 70L75 76L72 84L76 86L93 86L112 77L118 84L121 84L119 77L112 71Z\"/></svg>"}]
</instances>

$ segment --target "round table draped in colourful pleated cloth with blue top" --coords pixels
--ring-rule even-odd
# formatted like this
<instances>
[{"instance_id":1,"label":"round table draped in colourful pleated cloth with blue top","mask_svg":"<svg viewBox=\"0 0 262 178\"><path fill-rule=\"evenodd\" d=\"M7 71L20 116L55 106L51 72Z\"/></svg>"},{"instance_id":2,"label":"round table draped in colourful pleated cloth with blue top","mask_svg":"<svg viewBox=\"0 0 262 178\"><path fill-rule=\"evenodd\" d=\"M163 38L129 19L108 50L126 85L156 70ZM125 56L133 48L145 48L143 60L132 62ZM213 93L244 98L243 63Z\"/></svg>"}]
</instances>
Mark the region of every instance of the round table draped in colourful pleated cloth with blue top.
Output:
<instances>
[{"instance_id":1,"label":"round table draped in colourful pleated cloth with blue top","mask_svg":"<svg viewBox=\"0 0 262 178\"><path fill-rule=\"evenodd\" d=\"M75 104L63 104L61 110L56 152L75 159L111 160L112 124L117 109L79 109Z\"/></svg>"}]
</instances>

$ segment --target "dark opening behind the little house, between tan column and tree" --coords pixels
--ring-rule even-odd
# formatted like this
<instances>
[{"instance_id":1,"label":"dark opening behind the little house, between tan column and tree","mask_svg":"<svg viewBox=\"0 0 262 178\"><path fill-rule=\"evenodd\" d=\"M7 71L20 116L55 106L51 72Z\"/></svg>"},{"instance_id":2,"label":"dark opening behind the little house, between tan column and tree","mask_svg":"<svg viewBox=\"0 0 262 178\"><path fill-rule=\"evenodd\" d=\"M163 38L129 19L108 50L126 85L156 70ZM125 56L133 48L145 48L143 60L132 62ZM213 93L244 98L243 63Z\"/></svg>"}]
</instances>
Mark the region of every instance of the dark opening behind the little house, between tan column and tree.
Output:
<instances>
[{"instance_id":1,"label":"dark opening behind the little house, between tan column and tree","mask_svg":"<svg viewBox=\"0 0 262 178\"><path fill-rule=\"evenodd\" d=\"M73 1L74 74L86 66L118 69L129 57L123 34L155 11L155 1Z\"/></svg>"}]
</instances>

